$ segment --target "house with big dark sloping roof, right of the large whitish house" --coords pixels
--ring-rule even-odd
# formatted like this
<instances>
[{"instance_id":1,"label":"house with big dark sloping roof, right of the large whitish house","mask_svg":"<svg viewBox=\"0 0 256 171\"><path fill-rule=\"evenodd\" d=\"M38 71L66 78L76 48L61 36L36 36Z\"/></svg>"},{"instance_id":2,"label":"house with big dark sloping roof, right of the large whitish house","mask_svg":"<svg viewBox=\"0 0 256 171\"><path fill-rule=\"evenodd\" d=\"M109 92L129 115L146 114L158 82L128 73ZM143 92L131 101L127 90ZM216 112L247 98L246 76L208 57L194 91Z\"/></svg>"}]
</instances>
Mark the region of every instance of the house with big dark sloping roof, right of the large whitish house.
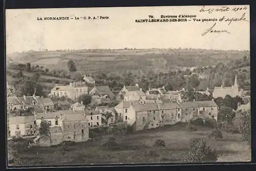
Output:
<instances>
[{"instance_id":1,"label":"house with big dark sloping roof, right of the large whitish house","mask_svg":"<svg viewBox=\"0 0 256 171\"><path fill-rule=\"evenodd\" d=\"M99 95L104 99L114 99L115 95L109 88L109 86L94 86L93 89L89 92L91 95Z\"/></svg>"}]
</instances>

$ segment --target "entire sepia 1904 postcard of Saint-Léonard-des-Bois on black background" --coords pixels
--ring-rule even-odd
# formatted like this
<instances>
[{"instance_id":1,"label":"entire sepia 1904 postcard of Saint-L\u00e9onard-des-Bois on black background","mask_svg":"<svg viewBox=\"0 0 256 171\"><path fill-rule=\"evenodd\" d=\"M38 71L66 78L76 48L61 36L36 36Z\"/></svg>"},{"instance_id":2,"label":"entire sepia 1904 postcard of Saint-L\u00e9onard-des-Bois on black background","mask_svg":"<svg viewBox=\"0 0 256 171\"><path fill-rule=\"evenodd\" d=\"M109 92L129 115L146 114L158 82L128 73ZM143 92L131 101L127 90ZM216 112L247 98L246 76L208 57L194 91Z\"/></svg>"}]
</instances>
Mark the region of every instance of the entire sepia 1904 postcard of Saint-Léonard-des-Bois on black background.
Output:
<instances>
[{"instance_id":1,"label":"entire sepia 1904 postcard of Saint-L\u00e9onard-des-Bois on black background","mask_svg":"<svg viewBox=\"0 0 256 171\"><path fill-rule=\"evenodd\" d=\"M249 8L7 9L8 167L250 161Z\"/></svg>"}]
</instances>

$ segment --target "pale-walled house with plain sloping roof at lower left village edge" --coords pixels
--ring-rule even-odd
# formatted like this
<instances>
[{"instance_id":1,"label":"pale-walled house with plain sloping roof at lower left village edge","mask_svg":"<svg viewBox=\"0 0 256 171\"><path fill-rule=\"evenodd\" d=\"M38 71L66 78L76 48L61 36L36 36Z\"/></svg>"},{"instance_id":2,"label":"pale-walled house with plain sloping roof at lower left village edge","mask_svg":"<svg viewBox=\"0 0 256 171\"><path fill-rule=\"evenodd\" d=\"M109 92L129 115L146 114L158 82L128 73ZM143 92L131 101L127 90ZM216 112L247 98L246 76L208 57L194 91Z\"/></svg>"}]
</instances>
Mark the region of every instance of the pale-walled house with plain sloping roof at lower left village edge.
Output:
<instances>
[{"instance_id":1,"label":"pale-walled house with plain sloping roof at lower left village edge","mask_svg":"<svg viewBox=\"0 0 256 171\"><path fill-rule=\"evenodd\" d=\"M36 118L34 115L9 116L10 136L26 137L37 134Z\"/></svg>"}]
</instances>

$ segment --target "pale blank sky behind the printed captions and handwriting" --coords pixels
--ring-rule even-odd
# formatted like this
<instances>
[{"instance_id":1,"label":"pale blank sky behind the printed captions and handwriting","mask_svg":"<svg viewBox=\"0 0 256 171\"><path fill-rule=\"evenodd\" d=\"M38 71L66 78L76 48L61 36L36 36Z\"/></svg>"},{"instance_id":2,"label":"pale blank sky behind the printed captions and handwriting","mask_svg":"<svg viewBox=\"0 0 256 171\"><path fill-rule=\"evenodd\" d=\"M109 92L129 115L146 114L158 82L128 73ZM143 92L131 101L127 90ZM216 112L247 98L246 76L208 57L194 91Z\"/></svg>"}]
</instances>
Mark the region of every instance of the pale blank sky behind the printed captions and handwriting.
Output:
<instances>
[{"instance_id":1,"label":"pale blank sky behind the printed captions and handwriting","mask_svg":"<svg viewBox=\"0 0 256 171\"><path fill-rule=\"evenodd\" d=\"M220 8L221 6L206 6ZM228 6L230 9L234 6ZM245 7L245 6L240 6ZM241 11L200 12L202 6L112 7L66 9L7 9L6 52L93 49L93 48L204 48L250 50L249 6ZM203 18L240 18L247 21L135 22L161 15L196 15ZM37 20L37 17L108 16L105 20ZM216 22L216 30L207 33Z\"/></svg>"}]
</instances>

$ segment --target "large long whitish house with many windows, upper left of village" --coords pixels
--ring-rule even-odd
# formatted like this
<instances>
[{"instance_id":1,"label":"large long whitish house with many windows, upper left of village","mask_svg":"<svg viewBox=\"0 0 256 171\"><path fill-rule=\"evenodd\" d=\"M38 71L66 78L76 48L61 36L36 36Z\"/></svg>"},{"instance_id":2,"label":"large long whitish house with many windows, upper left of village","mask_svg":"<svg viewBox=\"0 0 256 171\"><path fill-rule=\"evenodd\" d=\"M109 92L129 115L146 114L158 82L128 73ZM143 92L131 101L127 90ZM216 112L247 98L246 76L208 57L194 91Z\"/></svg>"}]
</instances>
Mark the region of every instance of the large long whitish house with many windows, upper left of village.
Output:
<instances>
[{"instance_id":1,"label":"large long whitish house with many windows, upper left of village","mask_svg":"<svg viewBox=\"0 0 256 171\"><path fill-rule=\"evenodd\" d=\"M82 94L88 94L89 87L84 82L73 82L69 85L55 85L54 88L51 89L51 95L55 95L57 97L65 96L72 100L78 99L78 97Z\"/></svg>"}]
</instances>

